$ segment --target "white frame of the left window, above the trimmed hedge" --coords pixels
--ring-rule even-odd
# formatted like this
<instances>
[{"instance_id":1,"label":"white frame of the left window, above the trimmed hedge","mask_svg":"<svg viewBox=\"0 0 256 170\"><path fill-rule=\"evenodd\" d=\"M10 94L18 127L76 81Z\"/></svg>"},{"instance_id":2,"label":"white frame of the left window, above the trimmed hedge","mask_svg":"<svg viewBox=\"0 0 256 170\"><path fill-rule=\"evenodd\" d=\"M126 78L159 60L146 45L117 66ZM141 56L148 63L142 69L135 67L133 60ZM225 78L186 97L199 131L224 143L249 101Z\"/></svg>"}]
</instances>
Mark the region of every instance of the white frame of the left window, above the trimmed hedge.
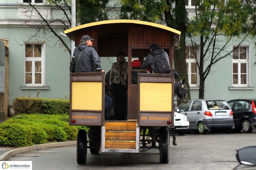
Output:
<instances>
[{"instance_id":1,"label":"white frame of the left window, above the trimmed hedge","mask_svg":"<svg viewBox=\"0 0 256 170\"><path fill-rule=\"evenodd\" d=\"M37 42L28 42L25 44L41 44L42 49L41 49L41 55L42 57L26 57L26 45L24 45L24 85L26 87L41 87L45 85L45 45L44 43L37 43ZM32 61L32 84L27 84L26 83L26 61ZM35 84L35 61L41 61L41 70L42 70L42 75L41 75L41 84Z\"/></svg>"}]
</instances>

